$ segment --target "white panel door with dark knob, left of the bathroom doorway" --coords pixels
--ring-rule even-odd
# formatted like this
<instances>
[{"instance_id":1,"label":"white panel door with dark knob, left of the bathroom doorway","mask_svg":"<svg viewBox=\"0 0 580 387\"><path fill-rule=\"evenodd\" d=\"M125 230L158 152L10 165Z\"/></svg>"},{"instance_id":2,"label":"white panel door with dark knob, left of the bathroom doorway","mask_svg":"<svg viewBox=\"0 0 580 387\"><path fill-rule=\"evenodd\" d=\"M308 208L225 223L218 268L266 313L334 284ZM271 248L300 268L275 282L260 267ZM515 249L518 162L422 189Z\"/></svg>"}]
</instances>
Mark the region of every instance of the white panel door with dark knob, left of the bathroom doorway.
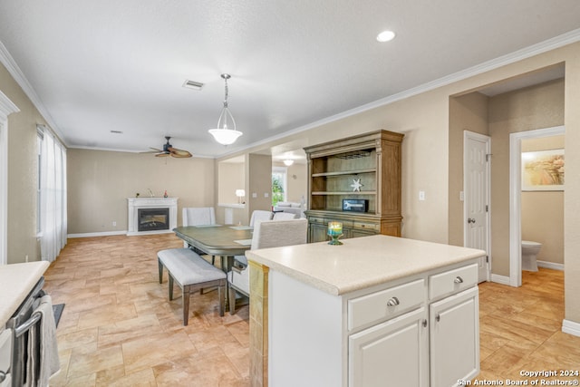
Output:
<instances>
[{"instance_id":1,"label":"white panel door with dark knob, left of the bathroom doorway","mask_svg":"<svg viewBox=\"0 0 580 387\"><path fill-rule=\"evenodd\" d=\"M479 260L479 282L489 279L489 177L491 139L465 131L463 147L464 245L485 250Z\"/></svg>"}]
</instances>

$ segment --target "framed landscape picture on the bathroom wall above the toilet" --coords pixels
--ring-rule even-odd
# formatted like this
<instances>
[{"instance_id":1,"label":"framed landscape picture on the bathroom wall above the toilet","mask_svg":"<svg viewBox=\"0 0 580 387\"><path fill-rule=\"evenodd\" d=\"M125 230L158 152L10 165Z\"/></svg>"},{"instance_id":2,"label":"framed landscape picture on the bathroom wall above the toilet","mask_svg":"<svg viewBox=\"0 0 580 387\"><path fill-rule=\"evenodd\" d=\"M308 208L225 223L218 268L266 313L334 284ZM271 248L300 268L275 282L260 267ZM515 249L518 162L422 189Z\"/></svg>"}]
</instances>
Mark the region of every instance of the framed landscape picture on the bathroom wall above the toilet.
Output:
<instances>
[{"instance_id":1,"label":"framed landscape picture on the bathroom wall above the toilet","mask_svg":"<svg viewBox=\"0 0 580 387\"><path fill-rule=\"evenodd\" d=\"M564 190L564 150L523 152L522 190Z\"/></svg>"}]
</instances>

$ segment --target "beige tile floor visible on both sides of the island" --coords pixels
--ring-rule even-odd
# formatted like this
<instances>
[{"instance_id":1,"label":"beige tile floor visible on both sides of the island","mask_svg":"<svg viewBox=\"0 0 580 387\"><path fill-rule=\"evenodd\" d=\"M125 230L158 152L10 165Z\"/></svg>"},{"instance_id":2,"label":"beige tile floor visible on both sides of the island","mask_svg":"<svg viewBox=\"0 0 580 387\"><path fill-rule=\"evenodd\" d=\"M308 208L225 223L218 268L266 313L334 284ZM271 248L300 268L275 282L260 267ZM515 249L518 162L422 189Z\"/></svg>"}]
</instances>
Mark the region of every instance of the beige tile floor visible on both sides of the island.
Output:
<instances>
[{"instance_id":1,"label":"beige tile floor visible on both sides of the island","mask_svg":"<svg viewBox=\"0 0 580 387\"><path fill-rule=\"evenodd\" d=\"M51 386L249 385L248 307L220 317L216 292L196 294L183 326L179 287L169 302L167 272L158 279L156 253L173 247L173 234L69 239L45 274L53 304L66 304ZM562 272L524 273L520 288L479 287L480 381L580 370L580 337L561 332Z\"/></svg>"}]
</instances>

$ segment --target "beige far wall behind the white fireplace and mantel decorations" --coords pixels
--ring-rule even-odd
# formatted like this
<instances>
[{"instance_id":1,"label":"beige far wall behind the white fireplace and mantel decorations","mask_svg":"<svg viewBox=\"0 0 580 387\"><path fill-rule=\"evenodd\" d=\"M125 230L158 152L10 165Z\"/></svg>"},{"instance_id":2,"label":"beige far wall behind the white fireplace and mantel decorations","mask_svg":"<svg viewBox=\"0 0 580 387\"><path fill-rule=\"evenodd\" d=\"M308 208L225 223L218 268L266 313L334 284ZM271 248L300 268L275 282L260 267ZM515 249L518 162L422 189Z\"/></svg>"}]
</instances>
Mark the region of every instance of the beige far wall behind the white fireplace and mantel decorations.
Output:
<instances>
[{"instance_id":1,"label":"beige far wall behind the white fireplace and mantel decorations","mask_svg":"<svg viewBox=\"0 0 580 387\"><path fill-rule=\"evenodd\" d=\"M214 161L157 158L152 154L75 150L68 156L69 234L127 230L127 198L167 190L181 208L214 206ZM112 222L117 226L112 226Z\"/></svg>"}]
</instances>

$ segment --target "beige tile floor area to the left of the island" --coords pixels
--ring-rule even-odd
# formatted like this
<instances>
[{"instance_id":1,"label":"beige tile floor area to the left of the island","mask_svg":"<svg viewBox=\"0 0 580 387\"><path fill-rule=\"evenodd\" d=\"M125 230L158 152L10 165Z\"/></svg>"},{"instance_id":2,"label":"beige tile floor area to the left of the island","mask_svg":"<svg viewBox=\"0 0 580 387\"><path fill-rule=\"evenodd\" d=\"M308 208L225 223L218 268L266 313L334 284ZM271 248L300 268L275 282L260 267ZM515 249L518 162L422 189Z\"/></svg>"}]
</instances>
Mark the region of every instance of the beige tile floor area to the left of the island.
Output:
<instances>
[{"instance_id":1,"label":"beige tile floor area to the left of the island","mask_svg":"<svg viewBox=\"0 0 580 387\"><path fill-rule=\"evenodd\" d=\"M183 247L173 234L69 239L45 274L62 370L52 386L247 386L248 307L219 316L217 292L181 297L159 284L157 251Z\"/></svg>"}]
</instances>

